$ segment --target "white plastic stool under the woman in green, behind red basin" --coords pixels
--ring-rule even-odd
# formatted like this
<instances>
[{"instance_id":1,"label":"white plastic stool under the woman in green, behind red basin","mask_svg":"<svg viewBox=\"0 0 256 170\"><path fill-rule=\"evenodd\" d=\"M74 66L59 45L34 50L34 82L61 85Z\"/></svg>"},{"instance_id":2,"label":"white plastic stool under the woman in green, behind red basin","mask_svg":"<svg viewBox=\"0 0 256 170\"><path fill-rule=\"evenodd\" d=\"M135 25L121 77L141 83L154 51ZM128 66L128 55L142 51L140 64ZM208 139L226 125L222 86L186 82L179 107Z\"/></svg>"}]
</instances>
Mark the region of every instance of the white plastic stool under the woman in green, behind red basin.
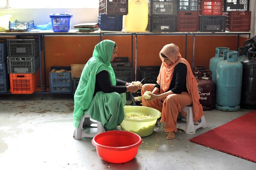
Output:
<instances>
[{"instance_id":1,"label":"white plastic stool under the woman in green, behind red basin","mask_svg":"<svg viewBox=\"0 0 256 170\"><path fill-rule=\"evenodd\" d=\"M84 128L84 129L83 129ZM95 131L97 129L97 131ZM79 127L75 129L73 138L81 139L83 137L93 138L95 135L105 132L104 127L100 121L95 121L90 118L90 115L84 113L84 116L81 118Z\"/></svg>"}]
</instances>

